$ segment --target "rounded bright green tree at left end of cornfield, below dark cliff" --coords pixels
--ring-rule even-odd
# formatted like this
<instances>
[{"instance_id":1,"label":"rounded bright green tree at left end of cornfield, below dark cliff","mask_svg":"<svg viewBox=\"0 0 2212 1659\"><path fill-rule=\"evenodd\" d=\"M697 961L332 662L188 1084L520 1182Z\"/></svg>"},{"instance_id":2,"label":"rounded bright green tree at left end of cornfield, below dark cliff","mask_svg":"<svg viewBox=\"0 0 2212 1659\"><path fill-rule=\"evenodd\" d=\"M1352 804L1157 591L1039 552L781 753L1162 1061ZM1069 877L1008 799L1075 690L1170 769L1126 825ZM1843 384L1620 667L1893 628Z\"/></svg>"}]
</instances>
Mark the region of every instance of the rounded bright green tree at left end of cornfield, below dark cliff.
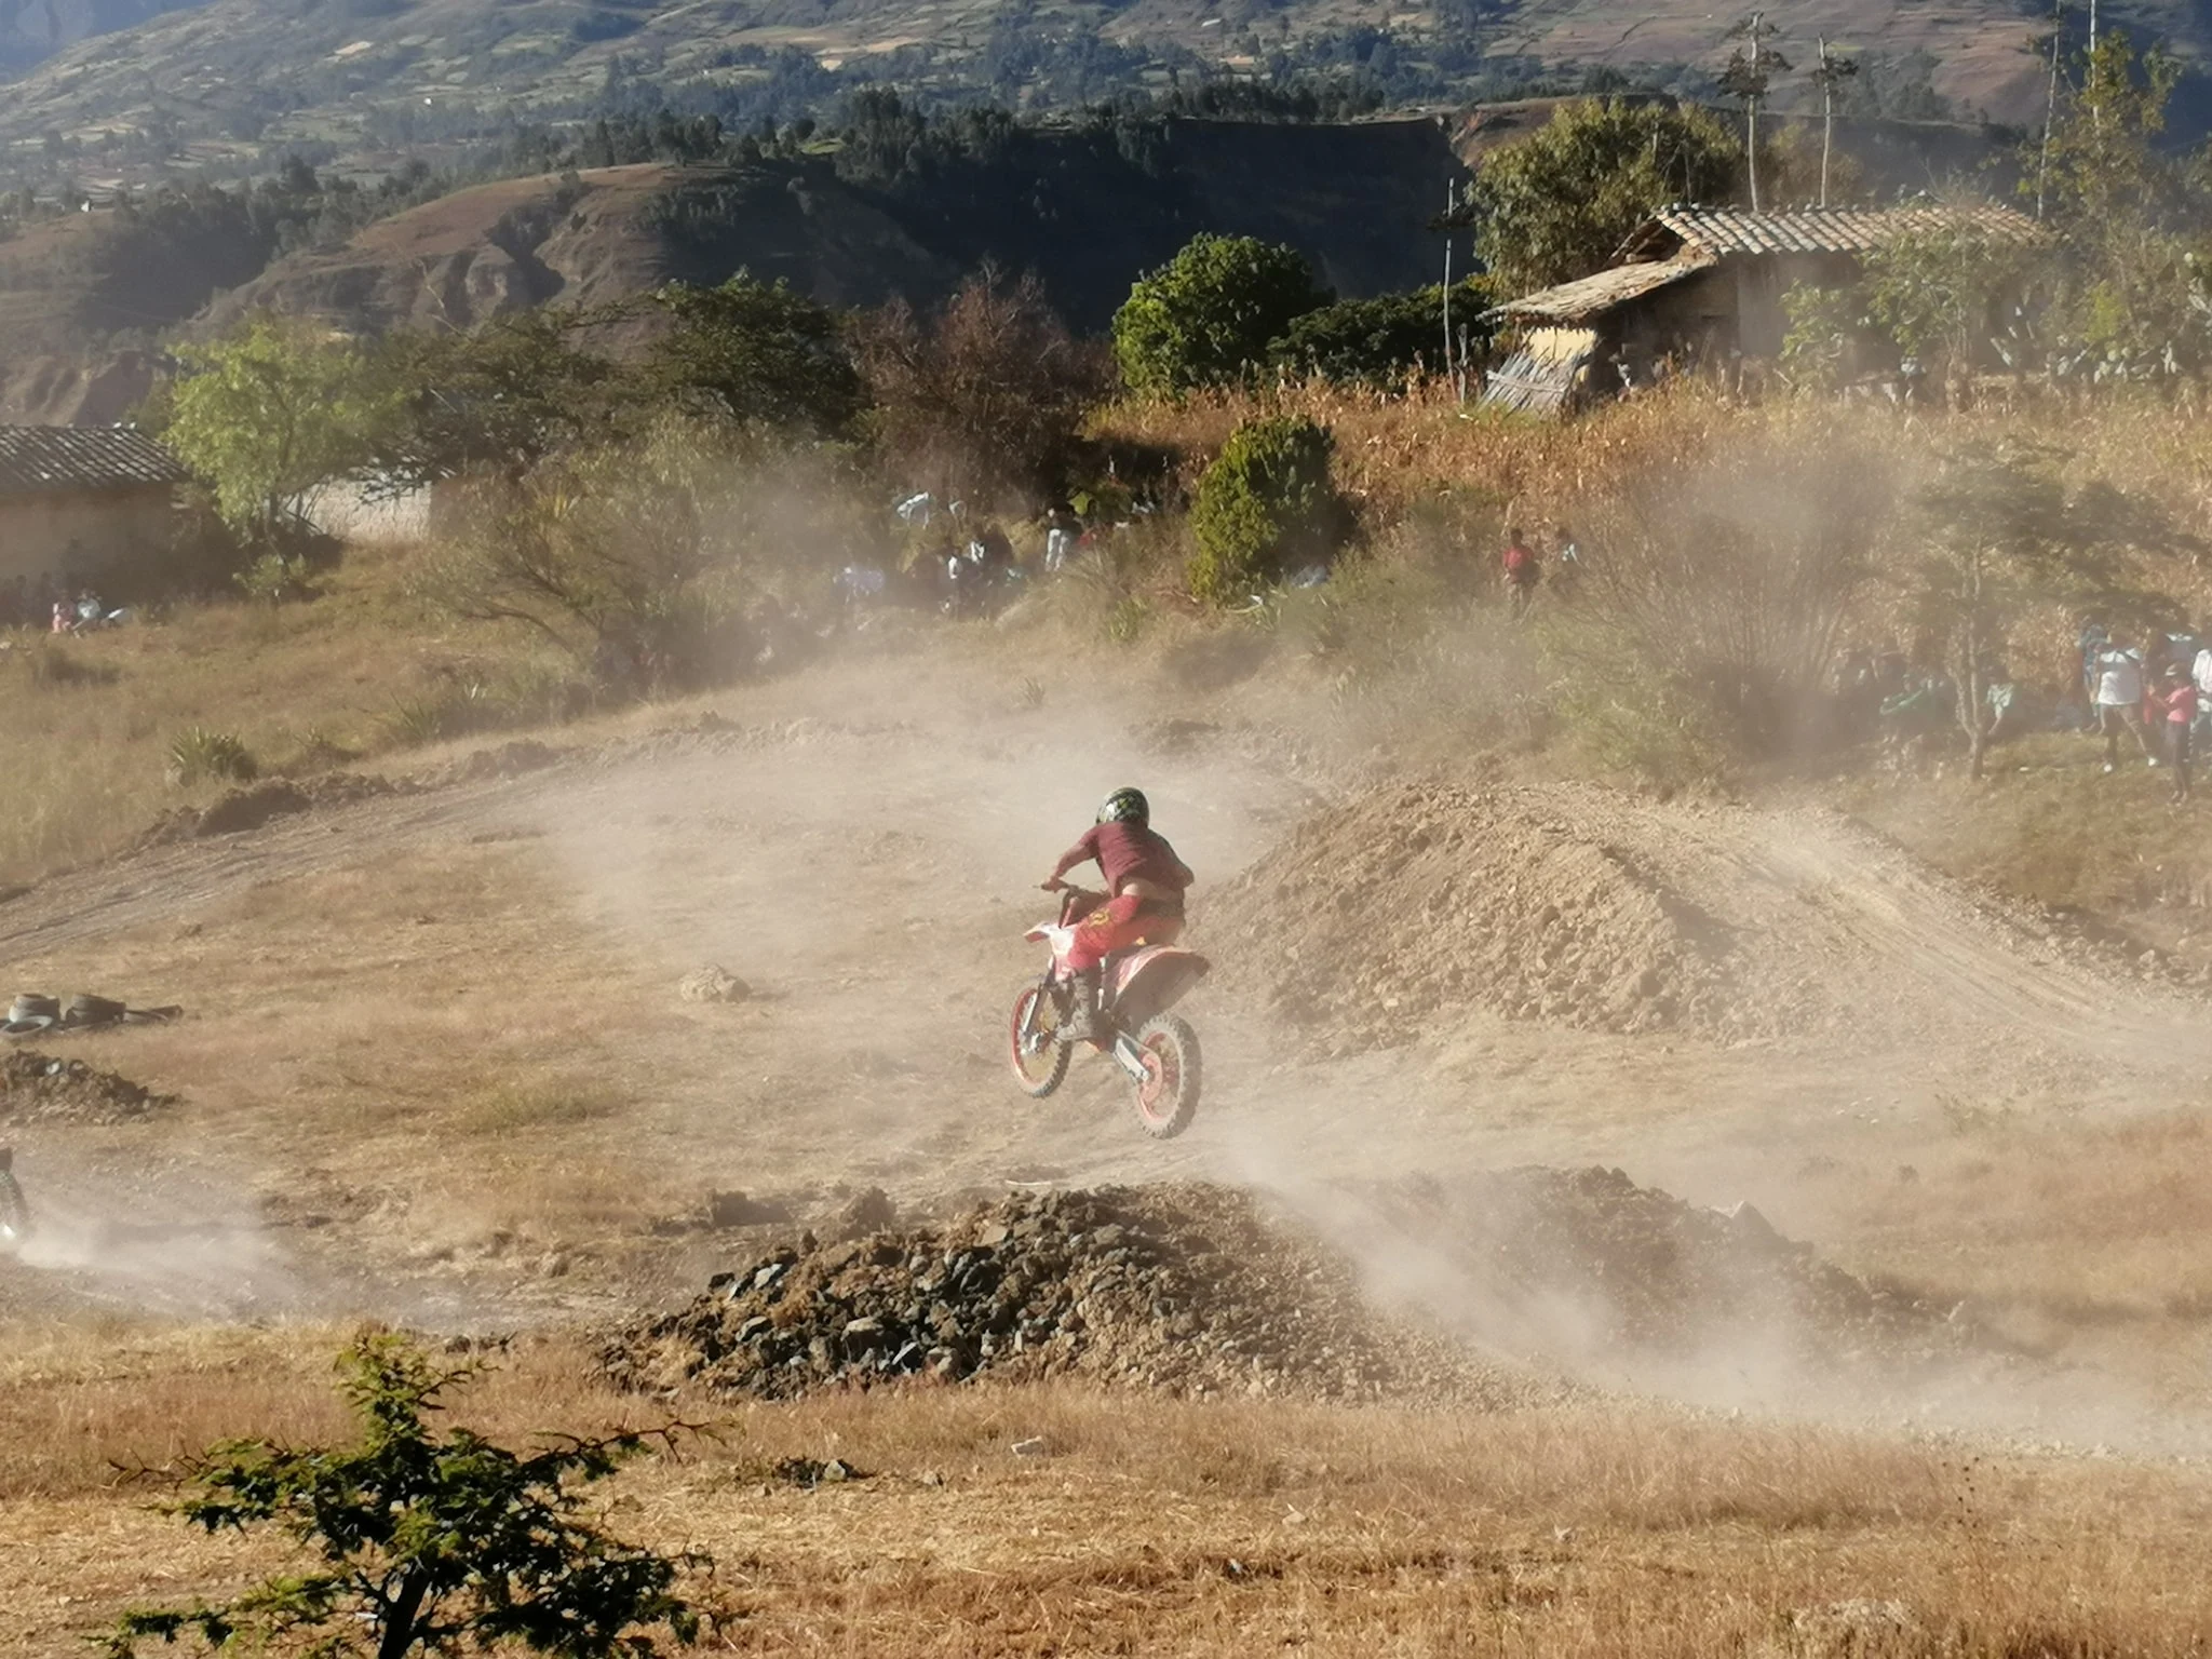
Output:
<instances>
[{"instance_id":1,"label":"rounded bright green tree at left end of cornfield, below dark cliff","mask_svg":"<svg viewBox=\"0 0 2212 1659\"><path fill-rule=\"evenodd\" d=\"M1199 234L1128 290L1113 349L1133 392L1230 385L1267 361L1292 321L1327 303L1296 248Z\"/></svg>"}]
</instances>

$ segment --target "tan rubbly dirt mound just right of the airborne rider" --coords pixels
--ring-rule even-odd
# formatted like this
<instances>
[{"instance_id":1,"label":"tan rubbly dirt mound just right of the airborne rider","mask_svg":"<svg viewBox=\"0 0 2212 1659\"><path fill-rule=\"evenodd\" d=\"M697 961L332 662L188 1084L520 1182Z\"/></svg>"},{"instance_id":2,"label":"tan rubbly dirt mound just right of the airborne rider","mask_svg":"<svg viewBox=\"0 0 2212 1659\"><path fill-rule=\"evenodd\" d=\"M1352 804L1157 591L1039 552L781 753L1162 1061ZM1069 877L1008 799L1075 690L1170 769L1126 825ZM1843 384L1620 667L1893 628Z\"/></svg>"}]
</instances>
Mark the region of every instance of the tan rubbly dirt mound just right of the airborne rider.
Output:
<instances>
[{"instance_id":1,"label":"tan rubbly dirt mound just right of the airborne rider","mask_svg":"<svg viewBox=\"0 0 2212 1659\"><path fill-rule=\"evenodd\" d=\"M1206 905L1223 982L1323 1053L1455 1006L1595 1031L1743 1031L1723 929L1537 792L1407 785L1327 807Z\"/></svg>"}]
</instances>

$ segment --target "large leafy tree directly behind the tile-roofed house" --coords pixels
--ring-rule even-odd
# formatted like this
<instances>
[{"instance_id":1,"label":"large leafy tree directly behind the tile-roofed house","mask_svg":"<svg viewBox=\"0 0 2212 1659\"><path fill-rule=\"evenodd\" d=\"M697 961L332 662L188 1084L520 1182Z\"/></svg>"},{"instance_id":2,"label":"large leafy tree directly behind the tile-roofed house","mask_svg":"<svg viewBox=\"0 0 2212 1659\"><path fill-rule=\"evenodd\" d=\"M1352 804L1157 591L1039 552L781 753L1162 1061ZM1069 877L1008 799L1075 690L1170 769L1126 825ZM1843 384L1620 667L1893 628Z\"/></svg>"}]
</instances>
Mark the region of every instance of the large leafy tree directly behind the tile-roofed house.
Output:
<instances>
[{"instance_id":1,"label":"large leafy tree directly behind the tile-roofed house","mask_svg":"<svg viewBox=\"0 0 2212 1659\"><path fill-rule=\"evenodd\" d=\"M1562 104L1475 168L1475 254L1506 294L1588 276L1657 208L1732 197L1741 168L1741 144L1705 111L1619 97Z\"/></svg>"}]
</instances>

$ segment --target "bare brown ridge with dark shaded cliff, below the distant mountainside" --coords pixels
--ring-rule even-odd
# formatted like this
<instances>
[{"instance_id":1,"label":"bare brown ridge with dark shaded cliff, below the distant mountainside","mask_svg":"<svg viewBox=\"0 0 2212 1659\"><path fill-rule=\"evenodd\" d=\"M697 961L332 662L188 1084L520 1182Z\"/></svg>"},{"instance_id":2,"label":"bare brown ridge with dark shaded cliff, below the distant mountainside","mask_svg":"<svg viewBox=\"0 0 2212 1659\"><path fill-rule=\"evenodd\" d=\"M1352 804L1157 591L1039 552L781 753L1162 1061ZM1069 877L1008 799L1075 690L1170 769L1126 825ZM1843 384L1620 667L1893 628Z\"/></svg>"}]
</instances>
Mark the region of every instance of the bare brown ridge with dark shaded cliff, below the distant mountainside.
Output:
<instances>
[{"instance_id":1,"label":"bare brown ridge with dark shaded cliff, below the distant mountainside","mask_svg":"<svg viewBox=\"0 0 2212 1659\"><path fill-rule=\"evenodd\" d=\"M1436 122L1172 122L1155 139L1157 150L1130 157L1110 128L1022 131L1002 153L891 181L845 177L830 157L507 179L234 276L208 321L272 305L365 330L469 325L737 270L834 305L927 303L991 261L1035 270L1073 325L1102 330L1130 281L1199 230L1290 241L1352 296L1436 279L1442 243L1427 219L1464 177ZM64 352L117 325L122 312L91 296L124 281L115 263L128 241L102 221L46 221L0 248L0 361ZM210 292L186 276L166 321Z\"/></svg>"}]
</instances>

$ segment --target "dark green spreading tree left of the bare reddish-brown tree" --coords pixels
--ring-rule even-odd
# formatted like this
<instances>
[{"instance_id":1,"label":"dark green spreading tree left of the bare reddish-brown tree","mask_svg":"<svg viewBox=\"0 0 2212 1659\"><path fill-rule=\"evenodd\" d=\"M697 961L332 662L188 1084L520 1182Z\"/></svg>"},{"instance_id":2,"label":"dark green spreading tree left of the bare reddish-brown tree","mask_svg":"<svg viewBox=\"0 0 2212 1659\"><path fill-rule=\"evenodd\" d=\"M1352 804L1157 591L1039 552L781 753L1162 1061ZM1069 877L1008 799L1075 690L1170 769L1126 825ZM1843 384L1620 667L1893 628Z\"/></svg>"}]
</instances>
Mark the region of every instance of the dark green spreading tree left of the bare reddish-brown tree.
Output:
<instances>
[{"instance_id":1,"label":"dark green spreading tree left of the bare reddish-brown tree","mask_svg":"<svg viewBox=\"0 0 2212 1659\"><path fill-rule=\"evenodd\" d=\"M646 378L668 396L816 438L847 431L867 405L843 319L787 283L739 272L719 288L670 283L648 303L670 327Z\"/></svg>"}]
</instances>

